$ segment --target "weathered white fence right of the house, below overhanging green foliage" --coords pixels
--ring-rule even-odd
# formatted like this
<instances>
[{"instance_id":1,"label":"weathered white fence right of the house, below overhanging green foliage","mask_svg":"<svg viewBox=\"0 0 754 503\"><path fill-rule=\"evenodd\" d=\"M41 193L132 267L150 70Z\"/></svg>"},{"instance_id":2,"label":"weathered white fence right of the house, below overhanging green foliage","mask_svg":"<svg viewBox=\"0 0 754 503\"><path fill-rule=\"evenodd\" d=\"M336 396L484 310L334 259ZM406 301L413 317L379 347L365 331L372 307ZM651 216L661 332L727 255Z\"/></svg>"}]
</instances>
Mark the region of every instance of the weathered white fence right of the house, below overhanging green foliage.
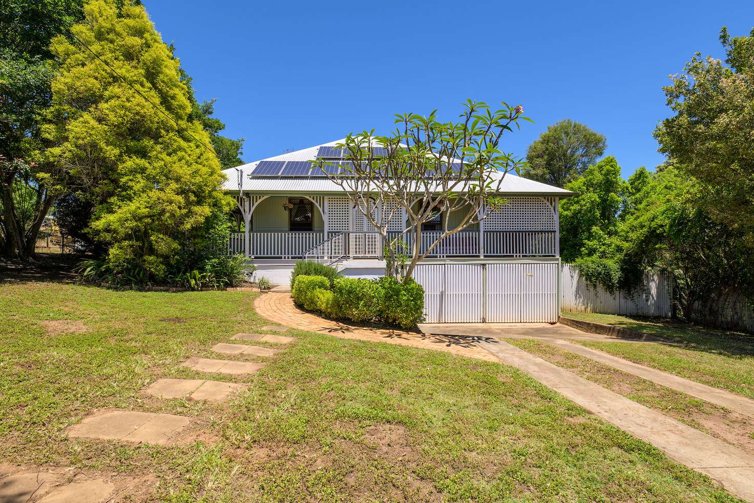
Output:
<instances>
[{"instance_id":1,"label":"weathered white fence right of the house, below overhanging green foliage","mask_svg":"<svg viewBox=\"0 0 754 503\"><path fill-rule=\"evenodd\" d=\"M673 284L666 275L645 271L642 284L630 292L609 293L584 281L578 269L562 264L560 270L561 311L604 314L637 314L670 317L673 314Z\"/></svg>"}]
</instances>

